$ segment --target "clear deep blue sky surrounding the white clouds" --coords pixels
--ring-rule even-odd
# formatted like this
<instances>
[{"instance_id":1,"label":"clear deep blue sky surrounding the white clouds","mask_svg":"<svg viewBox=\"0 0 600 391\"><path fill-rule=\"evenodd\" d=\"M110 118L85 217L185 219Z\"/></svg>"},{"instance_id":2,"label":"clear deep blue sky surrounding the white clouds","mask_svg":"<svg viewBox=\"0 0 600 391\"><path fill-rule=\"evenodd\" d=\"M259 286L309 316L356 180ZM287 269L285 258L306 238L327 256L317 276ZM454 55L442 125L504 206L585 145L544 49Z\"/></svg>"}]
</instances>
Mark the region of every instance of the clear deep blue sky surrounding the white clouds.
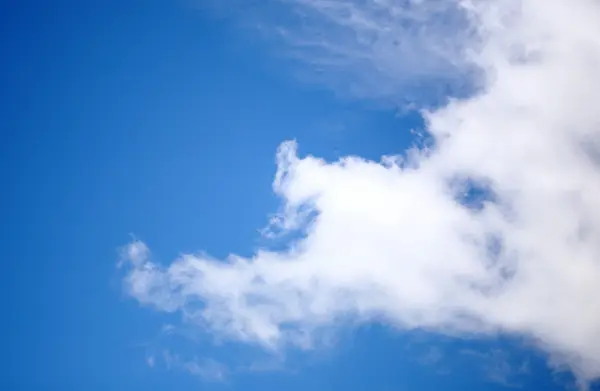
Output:
<instances>
[{"instance_id":1,"label":"clear deep blue sky surrounding the white clouds","mask_svg":"<svg viewBox=\"0 0 600 391\"><path fill-rule=\"evenodd\" d=\"M303 81L278 46L186 2L1 7L0 388L566 388L569 375L518 338L367 323L272 356L141 307L116 266L132 235L164 263L250 256L279 205L282 141L328 161L378 159L410 147L421 120Z\"/></svg>"}]
</instances>

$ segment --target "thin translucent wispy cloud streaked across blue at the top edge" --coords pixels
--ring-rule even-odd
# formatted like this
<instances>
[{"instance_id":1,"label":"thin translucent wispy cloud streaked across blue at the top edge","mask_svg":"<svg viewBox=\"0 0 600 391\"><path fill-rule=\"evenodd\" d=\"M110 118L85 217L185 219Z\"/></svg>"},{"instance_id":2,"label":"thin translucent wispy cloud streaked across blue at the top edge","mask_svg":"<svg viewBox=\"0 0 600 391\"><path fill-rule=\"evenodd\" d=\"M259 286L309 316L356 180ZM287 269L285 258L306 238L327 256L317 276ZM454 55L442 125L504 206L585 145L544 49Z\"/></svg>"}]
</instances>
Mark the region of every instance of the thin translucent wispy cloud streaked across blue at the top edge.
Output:
<instances>
[{"instance_id":1,"label":"thin translucent wispy cloud streaked across blue at the top edge","mask_svg":"<svg viewBox=\"0 0 600 391\"><path fill-rule=\"evenodd\" d=\"M303 63L299 74L341 96L395 105L435 103L473 87L469 50L478 35L456 1L284 0L286 23L271 35ZM287 49L286 49L287 48ZM437 98L437 99L436 99Z\"/></svg>"}]
</instances>

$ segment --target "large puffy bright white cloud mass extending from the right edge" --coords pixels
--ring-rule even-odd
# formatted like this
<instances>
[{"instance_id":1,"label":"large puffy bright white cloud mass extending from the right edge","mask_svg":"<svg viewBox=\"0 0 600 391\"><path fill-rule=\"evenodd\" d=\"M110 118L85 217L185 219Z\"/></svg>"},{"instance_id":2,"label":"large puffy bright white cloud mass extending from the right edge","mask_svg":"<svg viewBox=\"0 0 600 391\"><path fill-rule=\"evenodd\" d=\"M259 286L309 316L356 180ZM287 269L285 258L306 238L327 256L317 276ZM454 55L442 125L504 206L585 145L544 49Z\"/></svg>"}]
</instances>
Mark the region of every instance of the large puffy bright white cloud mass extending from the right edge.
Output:
<instances>
[{"instance_id":1,"label":"large puffy bright white cloud mass extending from the right edge","mask_svg":"<svg viewBox=\"0 0 600 391\"><path fill-rule=\"evenodd\" d=\"M479 88L423 112L433 148L330 163L285 142L274 224L298 233L289 248L164 267L134 241L124 251L129 294L266 348L305 346L340 319L376 320L523 336L580 379L600 376L600 3L446 3L470 33L445 35L436 55L476 69L467 73ZM360 33L388 31L393 15L434 22L441 2L296 4ZM338 45L353 53L363 44L353 37ZM365 73L394 66L369 61Z\"/></svg>"}]
</instances>

